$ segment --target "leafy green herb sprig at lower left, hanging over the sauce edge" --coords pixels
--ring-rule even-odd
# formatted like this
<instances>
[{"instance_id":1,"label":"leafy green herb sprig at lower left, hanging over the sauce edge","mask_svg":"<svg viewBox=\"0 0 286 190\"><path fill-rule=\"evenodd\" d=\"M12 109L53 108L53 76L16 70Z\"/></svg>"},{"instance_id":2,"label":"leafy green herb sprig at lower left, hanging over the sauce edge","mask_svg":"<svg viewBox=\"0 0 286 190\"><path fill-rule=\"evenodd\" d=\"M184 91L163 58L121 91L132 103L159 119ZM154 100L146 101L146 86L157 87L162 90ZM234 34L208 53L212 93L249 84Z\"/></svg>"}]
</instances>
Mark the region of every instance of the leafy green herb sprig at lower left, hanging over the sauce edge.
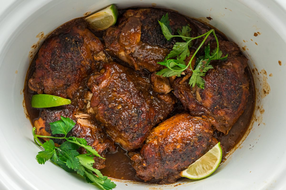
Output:
<instances>
[{"instance_id":1,"label":"leafy green herb sprig at lower left, hanging over the sauce edge","mask_svg":"<svg viewBox=\"0 0 286 190\"><path fill-rule=\"evenodd\" d=\"M59 121L49 123L51 125L52 134L63 134L64 137L52 137L37 135L36 128L33 127L32 133L35 143L45 150L40 151L36 158L39 164L44 164L46 161L51 160L53 163L59 165L67 172L76 171L79 175L83 176L88 183L95 183L104 190L110 190L116 187L113 181L103 176L98 169L93 168L94 157L101 157L96 150L87 145L86 139L77 137L67 137L67 134L74 127L76 123L70 118L61 116ZM48 141L42 143L40 138L49 138ZM52 139L65 139L59 147L55 147ZM86 154L80 154L77 149L83 147L86 149ZM94 175L93 172L96 174Z\"/></svg>"}]
</instances>

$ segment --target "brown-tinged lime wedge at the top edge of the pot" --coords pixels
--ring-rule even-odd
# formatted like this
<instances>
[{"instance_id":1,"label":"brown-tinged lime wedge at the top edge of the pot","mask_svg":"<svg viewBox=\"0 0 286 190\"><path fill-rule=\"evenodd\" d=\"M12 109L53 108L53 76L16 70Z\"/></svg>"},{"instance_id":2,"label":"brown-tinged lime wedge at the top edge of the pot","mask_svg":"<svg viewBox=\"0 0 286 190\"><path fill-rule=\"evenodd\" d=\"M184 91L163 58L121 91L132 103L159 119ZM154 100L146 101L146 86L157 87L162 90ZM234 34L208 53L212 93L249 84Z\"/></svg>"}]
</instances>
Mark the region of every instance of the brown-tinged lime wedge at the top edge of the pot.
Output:
<instances>
[{"instance_id":1,"label":"brown-tinged lime wedge at the top edge of the pot","mask_svg":"<svg viewBox=\"0 0 286 190\"><path fill-rule=\"evenodd\" d=\"M112 4L109 7L85 18L92 28L107 29L114 25L117 19L117 7Z\"/></svg>"}]
</instances>

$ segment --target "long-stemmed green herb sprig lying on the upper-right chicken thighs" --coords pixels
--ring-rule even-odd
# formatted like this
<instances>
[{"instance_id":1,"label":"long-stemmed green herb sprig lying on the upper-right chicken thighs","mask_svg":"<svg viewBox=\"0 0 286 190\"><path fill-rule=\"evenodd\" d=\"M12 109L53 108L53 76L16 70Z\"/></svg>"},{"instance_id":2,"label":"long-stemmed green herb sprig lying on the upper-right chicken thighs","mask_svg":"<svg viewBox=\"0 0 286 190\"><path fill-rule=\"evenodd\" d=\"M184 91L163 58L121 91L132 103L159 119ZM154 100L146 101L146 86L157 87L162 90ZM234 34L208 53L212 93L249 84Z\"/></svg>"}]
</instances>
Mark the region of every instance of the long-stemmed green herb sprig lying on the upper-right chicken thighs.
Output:
<instances>
[{"instance_id":1,"label":"long-stemmed green herb sprig lying on the upper-right chicken thighs","mask_svg":"<svg viewBox=\"0 0 286 190\"><path fill-rule=\"evenodd\" d=\"M177 30L179 35L172 35L168 13L166 14L166 16L163 15L162 19L158 22L161 26L164 37L168 41L170 41L170 39L173 37L181 37L185 41L185 42L176 42L172 48L172 51L170 51L170 53L165 57L164 61L158 62L158 64L167 67L156 73L156 75L162 75L163 77L170 77L174 75L180 77L182 72L186 70L188 67L190 67L192 60L195 58L196 54L198 53L198 51L200 50L200 48L202 47L208 36L212 34L215 37L215 40L217 42L217 47L212 52L210 52L210 44L208 43L208 45L206 45L204 49L205 55L198 57L196 67L194 69L190 67L193 73L192 76L190 77L189 85L192 87L197 85L199 88L204 89L205 81L202 77L205 76L206 72L209 69L213 68L211 65L209 65L210 61L219 59L224 60L228 56L226 55L225 57L221 57L223 53L219 49L219 41L215 34L215 30L211 29L210 31L200 36L191 37L190 35L191 28L189 25L186 25L183 26L181 30ZM186 65L184 60L186 59L187 56L190 56L189 48L192 47L192 41L194 39L198 39L201 37L204 37L204 39L202 40L202 42L192 55L188 64ZM170 59L170 58L176 58L176 59Z\"/></svg>"}]
</instances>

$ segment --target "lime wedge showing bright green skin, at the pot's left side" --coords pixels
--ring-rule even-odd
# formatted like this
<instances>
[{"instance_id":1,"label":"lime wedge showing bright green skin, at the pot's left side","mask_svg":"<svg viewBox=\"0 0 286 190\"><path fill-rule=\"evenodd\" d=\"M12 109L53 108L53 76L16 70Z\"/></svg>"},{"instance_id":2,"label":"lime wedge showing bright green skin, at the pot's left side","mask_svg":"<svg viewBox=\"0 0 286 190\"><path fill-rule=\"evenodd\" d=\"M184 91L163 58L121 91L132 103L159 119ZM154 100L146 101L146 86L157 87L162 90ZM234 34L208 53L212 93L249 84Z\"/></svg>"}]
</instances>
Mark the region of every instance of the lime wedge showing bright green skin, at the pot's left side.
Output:
<instances>
[{"instance_id":1,"label":"lime wedge showing bright green skin, at the pot's left side","mask_svg":"<svg viewBox=\"0 0 286 190\"><path fill-rule=\"evenodd\" d=\"M36 108L55 107L70 104L71 100L48 94L36 94L32 96L31 106Z\"/></svg>"}]
</instances>

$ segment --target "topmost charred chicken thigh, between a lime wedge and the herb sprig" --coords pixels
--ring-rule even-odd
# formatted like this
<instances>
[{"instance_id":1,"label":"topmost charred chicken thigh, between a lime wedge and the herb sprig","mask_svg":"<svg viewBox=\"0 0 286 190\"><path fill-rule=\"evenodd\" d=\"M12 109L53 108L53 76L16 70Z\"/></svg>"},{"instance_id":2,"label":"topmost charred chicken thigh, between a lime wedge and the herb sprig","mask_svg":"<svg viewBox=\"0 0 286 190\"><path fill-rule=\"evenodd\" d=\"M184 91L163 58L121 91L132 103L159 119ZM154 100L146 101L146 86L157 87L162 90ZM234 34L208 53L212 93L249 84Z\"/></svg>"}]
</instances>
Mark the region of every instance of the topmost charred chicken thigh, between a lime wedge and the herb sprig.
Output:
<instances>
[{"instance_id":1,"label":"topmost charred chicken thigh, between a lime wedge and the herb sprig","mask_svg":"<svg viewBox=\"0 0 286 190\"><path fill-rule=\"evenodd\" d=\"M164 68L157 62L163 61L174 43L181 40L167 41L164 37L158 20L166 13L152 8L125 11L118 19L118 26L109 27L104 34L106 50L138 71L154 72ZM194 28L182 15L174 11L168 11L168 15L172 34L177 34L177 29L187 24Z\"/></svg>"}]
</instances>

